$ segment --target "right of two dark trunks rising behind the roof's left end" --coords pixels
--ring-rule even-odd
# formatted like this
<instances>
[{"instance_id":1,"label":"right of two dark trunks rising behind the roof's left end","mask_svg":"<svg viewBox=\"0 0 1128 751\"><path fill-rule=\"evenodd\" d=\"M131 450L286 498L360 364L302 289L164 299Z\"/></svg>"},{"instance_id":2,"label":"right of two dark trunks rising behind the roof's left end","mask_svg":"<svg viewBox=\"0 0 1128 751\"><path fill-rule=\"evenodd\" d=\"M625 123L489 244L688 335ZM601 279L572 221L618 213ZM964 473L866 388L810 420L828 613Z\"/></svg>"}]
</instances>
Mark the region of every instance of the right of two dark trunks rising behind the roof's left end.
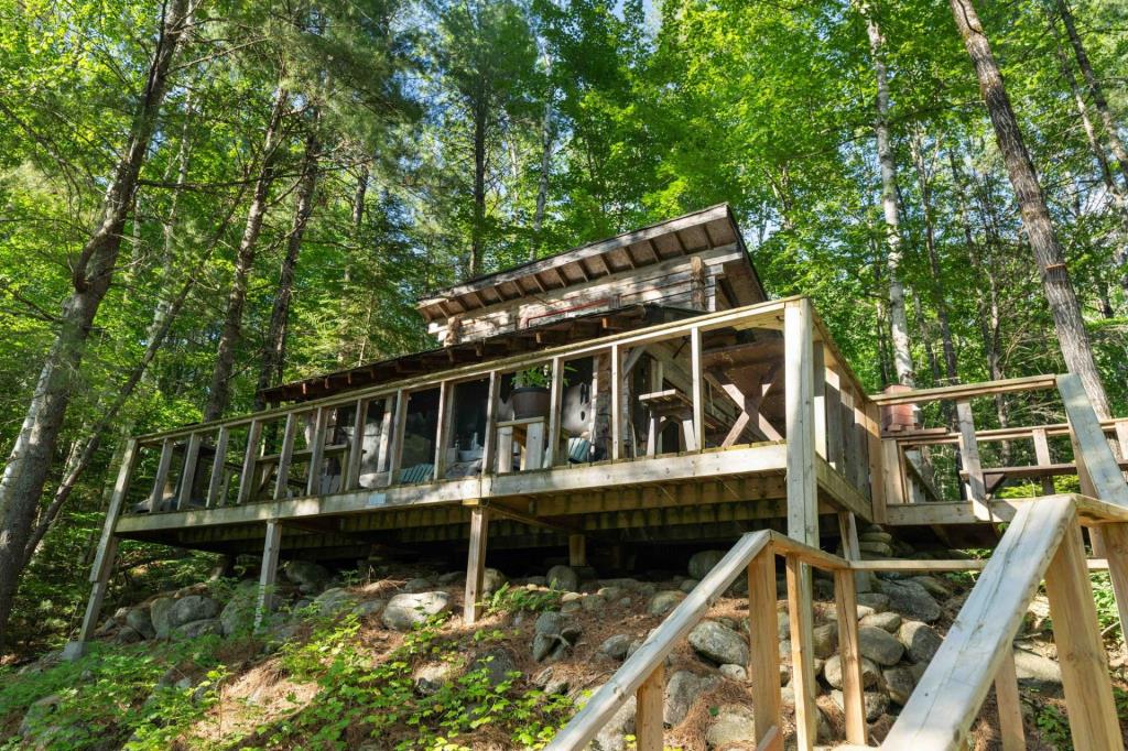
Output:
<instances>
[{"instance_id":1,"label":"right of two dark trunks rising behind the roof's left end","mask_svg":"<svg viewBox=\"0 0 1128 751\"><path fill-rule=\"evenodd\" d=\"M285 256L282 258L282 268L279 272L274 308L271 310L270 328L266 333L266 344L263 347L263 363L258 371L258 389L255 392L255 409L266 408L266 400L262 396L263 391L281 381L282 366L285 362L287 321L290 317L290 301L293 299L293 277L298 267L298 254L301 251L301 240L306 233L306 226L314 212L319 152L317 117L315 116L306 136L305 153L301 158L301 177L298 182L293 224L290 228L290 236L287 238Z\"/></svg>"}]
</instances>

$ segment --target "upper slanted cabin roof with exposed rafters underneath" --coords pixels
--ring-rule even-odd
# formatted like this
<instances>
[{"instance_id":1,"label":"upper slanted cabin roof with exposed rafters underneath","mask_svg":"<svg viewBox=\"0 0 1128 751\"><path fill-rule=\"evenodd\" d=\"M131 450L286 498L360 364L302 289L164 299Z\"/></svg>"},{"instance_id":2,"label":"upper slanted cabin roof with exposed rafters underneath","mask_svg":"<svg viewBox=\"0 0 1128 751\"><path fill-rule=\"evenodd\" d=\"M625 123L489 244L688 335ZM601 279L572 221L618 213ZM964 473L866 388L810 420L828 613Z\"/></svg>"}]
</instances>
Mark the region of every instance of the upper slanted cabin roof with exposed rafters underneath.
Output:
<instances>
[{"instance_id":1,"label":"upper slanted cabin roof with exposed rafters underneath","mask_svg":"<svg viewBox=\"0 0 1128 751\"><path fill-rule=\"evenodd\" d=\"M553 256L455 284L422 298L420 313L430 323L488 308L509 300L642 268L669 258L735 245L744 250L743 270L728 275L737 306L767 299L748 259L729 204L721 203L650 227L589 242Z\"/></svg>"}]
</instances>

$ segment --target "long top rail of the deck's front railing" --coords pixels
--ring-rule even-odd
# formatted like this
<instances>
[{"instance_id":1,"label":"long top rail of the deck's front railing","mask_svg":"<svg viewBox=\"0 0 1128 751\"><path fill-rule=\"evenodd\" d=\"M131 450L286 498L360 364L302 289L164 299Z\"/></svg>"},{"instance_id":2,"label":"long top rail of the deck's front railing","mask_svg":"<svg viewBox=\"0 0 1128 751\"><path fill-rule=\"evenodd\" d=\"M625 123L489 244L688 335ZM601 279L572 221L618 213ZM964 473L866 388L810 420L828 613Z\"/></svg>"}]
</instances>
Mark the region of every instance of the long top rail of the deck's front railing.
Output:
<instances>
[{"instance_id":1,"label":"long top rail of the deck's front railing","mask_svg":"<svg viewBox=\"0 0 1128 751\"><path fill-rule=\"evenodd\" d=\"M332 406L346 405L358 399L368 399L372 397L395 394L400 389L408 391L418 390L426 386L438 385L441 381L469 380L477 376L486 376L492 371L517 371L535 363L548 362L553 360L553 357L557 356L563 357L565 360L588 356L591 354L596 354L602 350L606 350L615 344L618 344L620 346L623 345L641 346L645 344L652 344L655 342L679 336L680 334L690 332L695 328L702 330L726 328L730 326L742 326L746 328L757 328L757 327L778 328L782 326L782 324L778 324L778 321L776 321L778 315L782 313L783 309L787 306L787 303L801 299L803 299L801 295L795 295L791 298L783 298L781 300L759 302L756 304L744 306L741 308L719 310L715 312L703 313L700 316L696 316L687 320L659 324L655 326L650 326L646 328L632 332L620 332L618 334L611 334L608 336L600 337L598 339L590 339L587 342L578 342L572 344L563 344L555 347L547 347L538 352L522 353L519 355L512 355L499 360L491 360L488 362L472 363L467 365L451 368L450 370L444 370L439 373L413 376L411 378L393 381L390 383L381 383L379 386L371 386L368 388L355 389L346 391L344 394L324 397L320 399L311 399L309 401L302 401L301 404L298 405L275 407L273 409L265 409L263 412L238 415L236 417L214 419L206 423L196 423L193 425L184 425L175 428L169 428L166 431L148 433L138 436L138 441L142 443L152 443L153 441L158 441L165 438L176 438L182 435L188 435L191 433L196 433L200 431L212 430L219 427L220 425L239 426L248 424L253 419L272 419L297 410L308 410L323 406L332 407Z\"/></svg>"}]
</instances>

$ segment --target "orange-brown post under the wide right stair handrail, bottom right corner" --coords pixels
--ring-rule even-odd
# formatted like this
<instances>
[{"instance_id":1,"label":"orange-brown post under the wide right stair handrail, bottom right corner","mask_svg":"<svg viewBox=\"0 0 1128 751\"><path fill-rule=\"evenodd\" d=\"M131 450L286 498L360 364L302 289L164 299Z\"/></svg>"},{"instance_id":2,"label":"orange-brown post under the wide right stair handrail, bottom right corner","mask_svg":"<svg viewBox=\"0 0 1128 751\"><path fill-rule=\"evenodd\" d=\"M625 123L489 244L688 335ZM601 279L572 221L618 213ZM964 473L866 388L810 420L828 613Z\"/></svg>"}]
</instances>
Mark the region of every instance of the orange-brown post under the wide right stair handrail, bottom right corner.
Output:
<instances>
[{"instance_id":1,"label":"orange-brown post under the wide right stair handrail, bottom right corner","mask_svg":"<svg viewBox=\"0 0 1128 751\"><path fill-rule=\"evenodd\" d=\"M1070 522L1046 571L1046 595L1050 601L1074 748L1123 749L1085 566L1085 548L1075 521Z\"/></svg>"}]
</instances>

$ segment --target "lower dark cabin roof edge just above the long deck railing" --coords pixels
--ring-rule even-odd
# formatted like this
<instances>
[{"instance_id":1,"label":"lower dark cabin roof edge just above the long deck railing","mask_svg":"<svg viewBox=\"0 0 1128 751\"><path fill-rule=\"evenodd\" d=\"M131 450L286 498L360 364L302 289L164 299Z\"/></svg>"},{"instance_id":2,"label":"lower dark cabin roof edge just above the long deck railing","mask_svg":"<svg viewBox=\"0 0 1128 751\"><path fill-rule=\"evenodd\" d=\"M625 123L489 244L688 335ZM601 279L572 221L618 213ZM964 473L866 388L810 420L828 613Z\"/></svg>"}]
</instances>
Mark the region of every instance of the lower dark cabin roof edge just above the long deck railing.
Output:
<instances>
[{"instance_id":1,"label":"lower dark cabin roof edge just above the long deck railing","mask_svg":"<svg viewBox=\"0 0 1128 751\"><path fill-rule=\"evenodd\" d=\"M261 394L270 404L306 401L340 391L388 383L420 373L456 368L468 363L487 362L512 354L543 350L546 346L555 344L606 336L617 332L654 326L699 315L699 310L686 310L666 306L624 306L614 310L600 310L548 321L539 326L528 326L515 332L506 332L484 339L367 362L355 368L346 368L324 376L315 376L270 389L263 389Z\"/></svg>"}]
</instances>

